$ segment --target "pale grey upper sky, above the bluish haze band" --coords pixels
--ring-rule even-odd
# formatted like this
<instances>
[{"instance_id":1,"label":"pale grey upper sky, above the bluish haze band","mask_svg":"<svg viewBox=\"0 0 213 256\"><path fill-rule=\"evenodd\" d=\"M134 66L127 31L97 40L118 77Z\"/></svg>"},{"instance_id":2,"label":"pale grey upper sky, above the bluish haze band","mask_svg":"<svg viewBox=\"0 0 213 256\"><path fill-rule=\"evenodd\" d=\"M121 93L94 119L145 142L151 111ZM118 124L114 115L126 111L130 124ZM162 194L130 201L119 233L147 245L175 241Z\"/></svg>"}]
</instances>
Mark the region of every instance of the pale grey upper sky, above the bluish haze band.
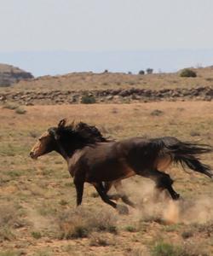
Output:
<instances>
[{"instance_id":1,"label":"pale grey upper sky, above the bluish haze band","mask_svg":"<svg viewBox=\"0 0 213 256\"><path fill-rule=\"evenodd\" d=\"M0 0L0 52L212 49L212 0Z\"/></svg>"}]
</instances>

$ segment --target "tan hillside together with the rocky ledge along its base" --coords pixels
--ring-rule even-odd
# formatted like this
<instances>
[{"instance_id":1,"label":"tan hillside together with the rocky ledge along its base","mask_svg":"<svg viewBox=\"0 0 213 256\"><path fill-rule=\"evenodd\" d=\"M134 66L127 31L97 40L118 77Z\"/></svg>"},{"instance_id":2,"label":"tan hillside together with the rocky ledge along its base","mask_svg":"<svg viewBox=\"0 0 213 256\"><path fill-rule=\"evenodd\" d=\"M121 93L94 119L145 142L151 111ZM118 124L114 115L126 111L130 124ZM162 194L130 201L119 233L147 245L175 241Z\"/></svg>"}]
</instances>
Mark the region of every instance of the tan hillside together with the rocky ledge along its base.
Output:
<instances>
[{"instance_id":1,"label":"tan hillside together with the rocky ledge along its base","mask_svg":"<svg viewBox=\"0 0 213 256\"><path fill-rule=\"evenodd\" d=\"M21 79L0 88L0 105L70 104L83 102L128 103L152 101L212 101L213 67L192 68L195 78L178 73L67 73Z\"/></svg>"}]
</instances>

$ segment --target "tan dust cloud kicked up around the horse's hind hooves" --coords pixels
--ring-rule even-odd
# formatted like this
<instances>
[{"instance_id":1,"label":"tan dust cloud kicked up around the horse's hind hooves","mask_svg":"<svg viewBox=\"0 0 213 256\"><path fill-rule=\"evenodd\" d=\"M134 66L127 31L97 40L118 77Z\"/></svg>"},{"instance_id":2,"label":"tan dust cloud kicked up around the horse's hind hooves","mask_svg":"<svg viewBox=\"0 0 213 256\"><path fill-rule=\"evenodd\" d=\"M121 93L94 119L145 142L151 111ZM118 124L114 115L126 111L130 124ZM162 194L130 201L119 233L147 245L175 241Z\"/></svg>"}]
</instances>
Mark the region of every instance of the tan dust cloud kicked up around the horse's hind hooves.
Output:
<instances>
[{"instance_id":1,"label":"tan dust cloud kicked up around the horse's hind hooves","mask_svg":"<svg viewBox=\"0 0 213 256\"><path fill-rule=\"evenodd\" d=\"M213 196L194 195L172 201L165 191L158 193L154 183L149 180L123 183L124 190L130 195L137 208L130 209L135 218L163 221L168 224L204 224L213 220Z\"/></svg>"}]
</instances>

